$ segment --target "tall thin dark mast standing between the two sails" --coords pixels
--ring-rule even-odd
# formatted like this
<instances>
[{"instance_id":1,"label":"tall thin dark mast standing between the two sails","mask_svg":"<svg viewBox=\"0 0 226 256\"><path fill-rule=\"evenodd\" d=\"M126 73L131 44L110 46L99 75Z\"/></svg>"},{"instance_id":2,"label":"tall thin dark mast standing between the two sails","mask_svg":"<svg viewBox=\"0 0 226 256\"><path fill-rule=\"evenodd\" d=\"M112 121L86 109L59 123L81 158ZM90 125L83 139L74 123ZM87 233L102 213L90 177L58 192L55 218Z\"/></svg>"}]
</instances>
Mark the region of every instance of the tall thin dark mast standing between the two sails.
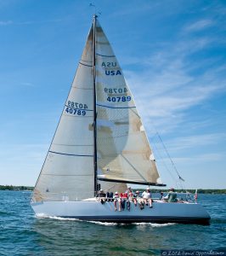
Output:
<instances>
[{"instance_id":1,"label":"tall thin dark mast standing between the two sails","mask_svg":"<svg viewBox=\"0 0 226 256\"><path fill-rule=\"evenodd\" d=\"M93 143L94 143L94 157L93 157L93 171L94 171L94 196L97 195L97 108L96 108L96 19L97 15L93 15Z\"/></svg>"}]
</instances>

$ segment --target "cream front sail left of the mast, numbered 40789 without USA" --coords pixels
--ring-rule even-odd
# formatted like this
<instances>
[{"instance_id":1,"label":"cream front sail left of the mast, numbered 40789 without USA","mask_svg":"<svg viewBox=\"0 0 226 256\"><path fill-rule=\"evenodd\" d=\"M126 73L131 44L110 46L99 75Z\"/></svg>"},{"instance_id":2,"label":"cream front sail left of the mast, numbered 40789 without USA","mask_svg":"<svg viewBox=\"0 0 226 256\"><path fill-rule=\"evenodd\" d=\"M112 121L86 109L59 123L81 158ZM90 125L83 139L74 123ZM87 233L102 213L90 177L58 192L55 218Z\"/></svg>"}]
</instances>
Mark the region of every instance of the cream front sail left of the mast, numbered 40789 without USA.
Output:
<instances>
[{"instance_id":1,"label":"cream front sail left of the mast, numbered 40789 without USA","mask_svg":"<svg viewBox=\"0 0 226 256\"><path fill-rule=\"evenodd\" d=\"M93 26L37 180L35 201L93 196Z\"/></svg>"}]
</instances>

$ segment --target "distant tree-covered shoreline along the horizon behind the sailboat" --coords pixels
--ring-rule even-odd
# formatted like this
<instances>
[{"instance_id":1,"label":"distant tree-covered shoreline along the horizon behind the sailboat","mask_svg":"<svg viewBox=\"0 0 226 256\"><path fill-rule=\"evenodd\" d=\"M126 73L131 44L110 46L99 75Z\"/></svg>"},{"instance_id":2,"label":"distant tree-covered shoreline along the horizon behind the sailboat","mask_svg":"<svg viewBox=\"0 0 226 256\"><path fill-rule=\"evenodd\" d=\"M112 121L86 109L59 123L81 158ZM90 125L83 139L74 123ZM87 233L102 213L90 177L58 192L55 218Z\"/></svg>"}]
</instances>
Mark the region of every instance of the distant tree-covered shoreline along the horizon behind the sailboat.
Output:
<instances>
[{"instance_id":1,"label":"distant tree-covered shoreline along the horizon behind the sailboat","mask_svg":"<svg viewBox=\"0 0 226 256\"><path fill-rule=\"evenodd\" d=\"M12 190L12 191L24 191L29 190L33 191L34 187L30 186L13 186L13 185L0 185L0 190ZM133 189L135 190L135 189ZM144 189L136 189L136 190L144 190ZM168 189L150 189L151 193L160 193L167 192ZM175 189L176 192L186 192L195 193L195 189ZM199 194L226 194L226 189L198 189Z\"/></svg>"}]
</instances>

